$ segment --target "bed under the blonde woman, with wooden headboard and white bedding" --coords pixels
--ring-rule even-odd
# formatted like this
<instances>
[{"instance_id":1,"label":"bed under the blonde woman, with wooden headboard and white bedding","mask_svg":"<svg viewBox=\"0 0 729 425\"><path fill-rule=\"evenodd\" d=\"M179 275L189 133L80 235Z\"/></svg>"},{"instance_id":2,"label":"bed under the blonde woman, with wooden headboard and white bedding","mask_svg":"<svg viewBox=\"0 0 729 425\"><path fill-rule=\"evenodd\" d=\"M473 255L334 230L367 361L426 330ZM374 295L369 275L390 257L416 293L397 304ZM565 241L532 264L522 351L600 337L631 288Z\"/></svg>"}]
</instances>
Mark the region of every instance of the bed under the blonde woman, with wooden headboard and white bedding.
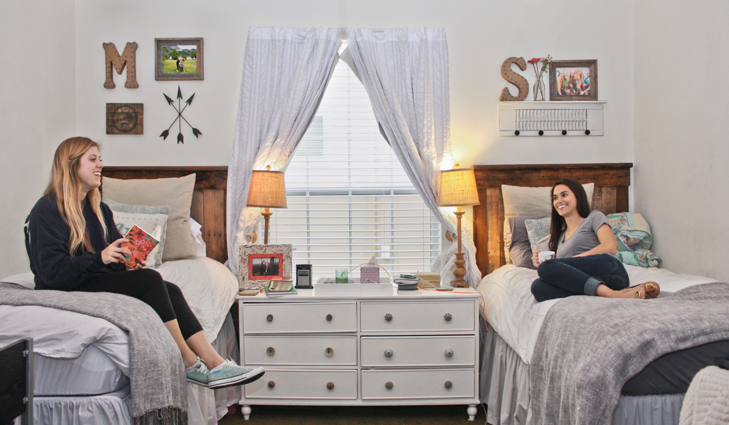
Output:
<instances>
[{"instance_id":1,"label":"bed under the blonde woman, with wooden headboard and white bedding","mask_svg":"<svg viewBox=\"0 0 729 425\"><path fill-rule=\"evenodd\" d=\"M237 360L230 306L235 302L238 281L222 265L227 260L227 167L104 168L104 176L114 179L159 179L191 173L196 178L190 217L200 225L206 257L163 262L157 271L180 286L219 354ZM3 280L34 286L30 273ZM35 424L133 423L129 332L106 319L75 311L2 304L0 296L0 346L18 338L34 338ZM176 347L171 355L176 355ZM190 424L217 424L228 406L241 397L240 387L211 390L192 383L184 386ZM160 387L160 391L164 389Z\"/></svg>"}]
</instances>

